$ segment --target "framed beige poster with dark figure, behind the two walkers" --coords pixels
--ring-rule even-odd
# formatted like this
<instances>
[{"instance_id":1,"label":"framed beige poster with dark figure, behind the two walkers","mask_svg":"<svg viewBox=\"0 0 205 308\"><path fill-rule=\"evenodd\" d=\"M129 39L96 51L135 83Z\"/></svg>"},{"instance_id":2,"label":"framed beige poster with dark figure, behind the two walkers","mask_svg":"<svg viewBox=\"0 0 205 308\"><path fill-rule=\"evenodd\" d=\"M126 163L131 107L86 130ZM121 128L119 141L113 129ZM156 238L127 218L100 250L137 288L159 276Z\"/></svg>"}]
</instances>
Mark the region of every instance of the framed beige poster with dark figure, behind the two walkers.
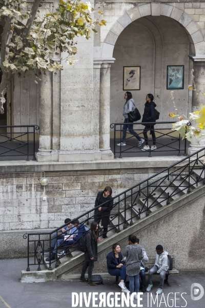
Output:
<instances>
[{"instance_id":1,"label":"framed beige poster with dark figure, behind the two walkers","mask_svg":"<svg viewBox=\"0 0 205 308\"><path fill-rule=\"evenodd\" d=\"M140 66L123 67L123 90L140 90Z\"/></svg>"}]
</instances>

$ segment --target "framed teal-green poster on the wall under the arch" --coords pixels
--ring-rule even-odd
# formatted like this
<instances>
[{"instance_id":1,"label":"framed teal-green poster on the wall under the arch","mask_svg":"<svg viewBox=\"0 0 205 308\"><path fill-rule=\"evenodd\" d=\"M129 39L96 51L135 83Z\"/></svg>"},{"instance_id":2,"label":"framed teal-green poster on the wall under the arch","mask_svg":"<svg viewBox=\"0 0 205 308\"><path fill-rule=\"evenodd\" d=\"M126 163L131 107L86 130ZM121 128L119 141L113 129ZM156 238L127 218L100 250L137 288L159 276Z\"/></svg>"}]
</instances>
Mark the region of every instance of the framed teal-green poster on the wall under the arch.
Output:
<instances>
[{"instance_id":1,"label":"framed teal-green poster on the wall under the arch","mask_svg":"<svg viewBox=\"0 0 205 308\"><path fill-rule=\"evenodd\" d=\"M167 66L167 89L183 89L183 65Z\"/></svg>"}]
</instances>

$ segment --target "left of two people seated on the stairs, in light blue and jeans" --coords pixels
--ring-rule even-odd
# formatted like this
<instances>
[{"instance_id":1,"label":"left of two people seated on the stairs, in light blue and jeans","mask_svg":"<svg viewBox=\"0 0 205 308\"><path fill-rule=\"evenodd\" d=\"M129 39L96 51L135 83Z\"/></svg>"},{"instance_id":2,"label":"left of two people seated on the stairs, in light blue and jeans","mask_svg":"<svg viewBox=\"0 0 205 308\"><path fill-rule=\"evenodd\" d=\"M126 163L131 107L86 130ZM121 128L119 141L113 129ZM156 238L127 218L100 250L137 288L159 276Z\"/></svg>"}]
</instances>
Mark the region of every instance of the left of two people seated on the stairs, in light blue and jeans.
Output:
<instances>
[{"instance_id":1,"label":"left of two people seated on the stairs, in light blue and jeans","mask_svg":"<svg viewBox=\"0 0 205 308\"><path fill-rule=\"evenodd\" d=\"M68 223L67 226L59 229L57 236L56 236L56 233L54 233L53 240L52 240L52 246L51 246L51 251L52 251L51 260L55 259L57 247L59 247L65 241L65 235L71 235L69 238L72 238L72 234L75 233L76 227L70 222L71 222L71 219L66 218L65 223ZM49 251L50 249L48 248L48 249L45 249L44 252L49 252ZM46 261L50 261L50 258L48 257Z\"/></svg>"}]
</instances>

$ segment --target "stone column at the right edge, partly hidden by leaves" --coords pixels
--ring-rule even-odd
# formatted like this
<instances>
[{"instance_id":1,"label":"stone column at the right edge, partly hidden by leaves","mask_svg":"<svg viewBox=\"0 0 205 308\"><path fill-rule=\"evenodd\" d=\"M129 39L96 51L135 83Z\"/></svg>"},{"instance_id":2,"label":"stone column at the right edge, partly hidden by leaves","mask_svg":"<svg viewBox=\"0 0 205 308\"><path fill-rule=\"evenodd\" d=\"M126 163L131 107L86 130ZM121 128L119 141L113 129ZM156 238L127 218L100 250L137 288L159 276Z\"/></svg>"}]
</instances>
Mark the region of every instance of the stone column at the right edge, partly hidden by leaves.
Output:
<instances>
[{"instance_id":1,"label":"stone column at the right edge, partly hidden by leaves","mask_svg":"<svg viewBox=\"0 0 205 308\"><path fill-rule=\"evenodd\" d=\"M192 91L192 112L200 110L200 106L205 105L205 57L198 59L198 57L191 57L194 62L194 82L196 91ZM192 121L192 125L196 127L198 124ZM192 137L190 147L188 148L188 155L200 150L204 147L204 140Z\"/></svg>"}]
</instances>

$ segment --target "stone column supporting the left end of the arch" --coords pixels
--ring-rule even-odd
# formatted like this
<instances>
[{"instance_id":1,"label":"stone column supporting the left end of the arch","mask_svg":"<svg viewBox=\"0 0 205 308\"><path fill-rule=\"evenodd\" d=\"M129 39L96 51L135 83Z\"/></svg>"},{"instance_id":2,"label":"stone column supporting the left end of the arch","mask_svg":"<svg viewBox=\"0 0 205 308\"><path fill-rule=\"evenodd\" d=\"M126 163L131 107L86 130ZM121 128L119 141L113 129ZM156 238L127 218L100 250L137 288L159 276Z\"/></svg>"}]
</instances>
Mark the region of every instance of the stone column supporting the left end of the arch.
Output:
<instances>
[{"instance_id":1,"label":"stone column supporting the left end of the arch","mask_svg":"<svg viewBox=\"0 0 205 308\"><path fill-rule=\"evenodd\" d=\"M110 149L110 63L101 64L99 95L99 149L101 159L113 158Z\"/></svg>"}]
</instances>

